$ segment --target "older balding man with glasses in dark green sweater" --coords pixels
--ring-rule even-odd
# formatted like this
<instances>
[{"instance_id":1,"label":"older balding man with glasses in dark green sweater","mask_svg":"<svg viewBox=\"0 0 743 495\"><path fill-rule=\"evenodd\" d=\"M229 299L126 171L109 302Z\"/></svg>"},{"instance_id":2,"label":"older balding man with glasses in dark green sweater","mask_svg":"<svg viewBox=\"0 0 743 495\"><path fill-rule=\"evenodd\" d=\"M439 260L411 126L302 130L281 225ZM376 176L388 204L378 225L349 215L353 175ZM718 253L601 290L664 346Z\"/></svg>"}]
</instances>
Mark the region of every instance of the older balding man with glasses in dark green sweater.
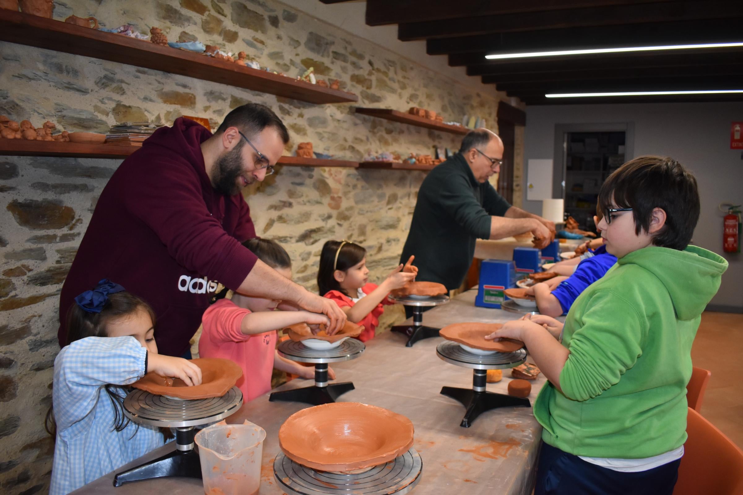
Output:
<instances>
[{"instance_id":1,"label":"older balding man with glasses in dark green sweater","mask_svg":"<svg viewBox=\"0 0 743 495\"><path fill-rule=\"evenodd\" d=\"M488 182L500 170L503 142L484 128L470 132L459 152L438 165L421 184L400 258L415 255L417 281L458 288L467 275L476 239L502 239L525 232L547 246L555 226L511 206Z\"/></svg>"}]
</instances>

